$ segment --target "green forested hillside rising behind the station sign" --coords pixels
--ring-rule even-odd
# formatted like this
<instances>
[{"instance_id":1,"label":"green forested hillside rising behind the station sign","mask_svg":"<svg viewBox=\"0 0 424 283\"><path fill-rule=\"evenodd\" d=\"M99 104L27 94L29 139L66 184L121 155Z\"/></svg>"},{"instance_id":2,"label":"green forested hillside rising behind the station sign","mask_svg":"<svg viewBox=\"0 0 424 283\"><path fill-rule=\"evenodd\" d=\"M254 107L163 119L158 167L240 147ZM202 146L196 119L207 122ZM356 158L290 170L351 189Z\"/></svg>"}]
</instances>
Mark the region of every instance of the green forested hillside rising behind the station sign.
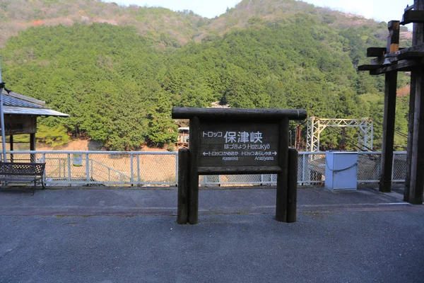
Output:
<instances>
[{"instance_id":1,"label":"green forested hillside rising behind the station sign","mask_svg":"<svg viewBox=\"0 0 424 283\"><path fill-rule=\"evenodd\" d=\"M116 6L124 15L137 11L141 22L185 19L185 30L164 23L141 32L138 22L81 21L28 28L8 38L0 50L3 80L13 91L71 115L45 119L41 125L59 129L63 124L74 137L90 137L107 149L172 143L177 134L172 106L208 107L215 101L237 108L305 108L310 116L381 122L384 77L358 73L355 67L366 62L367 47L385 46L387 24L363 19L341 25L349 17L339 12L299 1L264 2L268 9L258 1L242 1L212 20L189 11ZM31 3L50 8L86 4L86 13L95 5L114 6L84 0ZM2 27L16 21L3 15ZM231 23L235 18L237 23ZM27 21L36 19L28 16ZM403 42L402 47L409 44ZM401 74L399 86L408 79ZM398 98L396 129L401 132L406 132L407 99ZM381 132L376 124L377 146ZM332 132L322 138L322 144L338 142ZM396 137L395 144L401 149L404 137Z\"/></svg>"}]
</instances>

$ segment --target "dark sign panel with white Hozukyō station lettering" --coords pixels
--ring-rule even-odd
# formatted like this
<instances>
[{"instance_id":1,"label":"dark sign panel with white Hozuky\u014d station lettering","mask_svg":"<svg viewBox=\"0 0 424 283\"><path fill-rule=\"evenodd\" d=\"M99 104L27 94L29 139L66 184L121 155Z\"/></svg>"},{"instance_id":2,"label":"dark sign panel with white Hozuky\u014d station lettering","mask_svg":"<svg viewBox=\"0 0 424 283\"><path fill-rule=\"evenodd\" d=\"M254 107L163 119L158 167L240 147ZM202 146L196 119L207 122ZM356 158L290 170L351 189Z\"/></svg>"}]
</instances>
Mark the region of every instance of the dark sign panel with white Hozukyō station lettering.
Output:
<instances>
[{"instance_id":1,"label":"dark sign panel with white Hozuky\u014d station lettering","mask_svg":"<svg viewBox=\"0 0 424 283\"><path fill-rule=\"evenodd\" d=\"M207 122L200 125L199 166L277 166L278 124Z\"/></svg>"}]
</instances>

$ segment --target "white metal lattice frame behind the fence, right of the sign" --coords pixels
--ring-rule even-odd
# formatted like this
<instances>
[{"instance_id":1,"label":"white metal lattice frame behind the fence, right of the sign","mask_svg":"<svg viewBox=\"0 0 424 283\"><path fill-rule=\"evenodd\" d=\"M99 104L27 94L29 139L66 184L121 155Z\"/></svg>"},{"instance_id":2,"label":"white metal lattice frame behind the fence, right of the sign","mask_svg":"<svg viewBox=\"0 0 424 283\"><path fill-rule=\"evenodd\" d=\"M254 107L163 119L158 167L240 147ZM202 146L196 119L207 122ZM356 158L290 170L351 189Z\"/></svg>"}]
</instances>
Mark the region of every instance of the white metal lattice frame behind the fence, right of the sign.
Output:
<instances>
[{"instance_id":1,"label":"white metal lattice frame behind the fence, right of the sign","mask_svg":"<svg viewBox=\"0 0 424 283\"><path fill-rule=\"evenodd\" d=\"M306 151L319 151L319 134L326 127L356 127L358 131L358 149L372 151L373 127L370 118L363 119L321 119L310 117L307 120Z\"/></svg>"}]
</instances>

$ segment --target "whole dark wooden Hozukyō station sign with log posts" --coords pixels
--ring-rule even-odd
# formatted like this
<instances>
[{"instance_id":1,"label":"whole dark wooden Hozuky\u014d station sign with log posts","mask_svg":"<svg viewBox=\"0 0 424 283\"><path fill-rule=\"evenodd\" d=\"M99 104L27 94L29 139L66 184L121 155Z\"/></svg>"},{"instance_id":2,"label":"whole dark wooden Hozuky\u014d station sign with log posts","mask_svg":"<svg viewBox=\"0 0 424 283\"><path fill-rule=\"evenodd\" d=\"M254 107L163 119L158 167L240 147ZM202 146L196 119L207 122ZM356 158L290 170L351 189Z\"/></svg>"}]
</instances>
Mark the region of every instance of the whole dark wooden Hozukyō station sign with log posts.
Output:
<instances>
[{"instance_id":1,"label":"whole dark wooden Hozuky\u014d station sign with log posts","mask_svg":"<svg viewBox=\"0 0 424 283\"><path fill-rule=\"evenodd\" d=\"M198 221L199 175L218 174L276 173L276 220L295 221L297 182L288 176L297 178L298 155L289 160L288 121L304 120L305 110L172 108L172 117L190 119L189 149L178 154L179 224Z\"/></svg>"}]
</instances>

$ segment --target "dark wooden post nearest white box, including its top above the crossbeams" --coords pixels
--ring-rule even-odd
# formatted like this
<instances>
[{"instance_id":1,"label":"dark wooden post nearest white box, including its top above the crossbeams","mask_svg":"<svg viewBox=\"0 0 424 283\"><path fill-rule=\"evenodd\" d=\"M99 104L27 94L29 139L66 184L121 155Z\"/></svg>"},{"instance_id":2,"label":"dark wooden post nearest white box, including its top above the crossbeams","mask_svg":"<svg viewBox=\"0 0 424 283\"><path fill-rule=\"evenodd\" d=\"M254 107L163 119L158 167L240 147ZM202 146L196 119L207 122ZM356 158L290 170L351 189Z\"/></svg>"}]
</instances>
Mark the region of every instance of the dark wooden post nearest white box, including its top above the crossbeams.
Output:
<instances>
[{"instance_id":1,"label":"dark wooden post nearest white box, including its top above the crossbeams","mask_svg":"<svg viewBox=\"0 0 424 283\"><path fill-rule=\"evenodd\" d=\"M387 37L386 52L399 50L399 21L389 21L387 24L389 37ZM393 168L393 145L394 145L394 117L396 114L396 88L397 72L385 74L384 86L384 117L383 117L383 142L382 160L379 180L379 191L391 191L391 171Z\"/></svg>"}]
</instances>

